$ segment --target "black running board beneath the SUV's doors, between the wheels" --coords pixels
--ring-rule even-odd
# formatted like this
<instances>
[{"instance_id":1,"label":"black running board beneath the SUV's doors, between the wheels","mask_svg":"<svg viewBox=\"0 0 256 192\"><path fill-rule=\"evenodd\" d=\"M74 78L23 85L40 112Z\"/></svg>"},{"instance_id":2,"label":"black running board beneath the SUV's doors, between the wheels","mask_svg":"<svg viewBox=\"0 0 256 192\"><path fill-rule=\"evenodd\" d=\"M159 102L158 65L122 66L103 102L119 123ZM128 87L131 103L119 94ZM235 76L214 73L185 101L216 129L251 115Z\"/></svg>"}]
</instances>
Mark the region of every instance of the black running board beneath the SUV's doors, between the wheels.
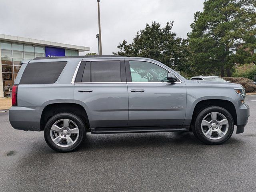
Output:
<instances>
[{"instance_id":1,"label":"black running board beneath the SUV's doors, between the wheels","mask_svg":"<svg viewBox=\"0 0 256 192\"><path fill-rule=\"evenodd\" d=\"M183 132L189 126L160 126L160 127L122 127L122 128L91 128L93 134L107 133L144 133L144 132Z\"/></svg>"}]
</instances>

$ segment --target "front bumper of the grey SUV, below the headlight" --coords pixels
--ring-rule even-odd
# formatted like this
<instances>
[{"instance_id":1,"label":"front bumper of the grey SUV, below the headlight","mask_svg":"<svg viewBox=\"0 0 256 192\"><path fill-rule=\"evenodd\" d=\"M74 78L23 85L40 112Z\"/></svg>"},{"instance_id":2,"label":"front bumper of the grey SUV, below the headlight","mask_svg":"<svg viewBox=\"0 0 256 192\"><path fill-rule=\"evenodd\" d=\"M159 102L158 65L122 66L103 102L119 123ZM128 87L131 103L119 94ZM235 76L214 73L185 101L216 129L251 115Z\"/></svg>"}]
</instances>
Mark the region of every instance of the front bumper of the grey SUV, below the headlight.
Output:
<instances>
[{"instance_id":1,"label":"front bumper of the grey SUV, below the headlight","mask_svg":"<svg viewBox=\"0 0 256 192\"><path fill-rule=\"evenodd\" d=\"M243 133L244 127L248 122L250 116L250 108L246 104L242 104L239 108L239 115L237 119L236 134Z\"/></svg>"}]
</instances>

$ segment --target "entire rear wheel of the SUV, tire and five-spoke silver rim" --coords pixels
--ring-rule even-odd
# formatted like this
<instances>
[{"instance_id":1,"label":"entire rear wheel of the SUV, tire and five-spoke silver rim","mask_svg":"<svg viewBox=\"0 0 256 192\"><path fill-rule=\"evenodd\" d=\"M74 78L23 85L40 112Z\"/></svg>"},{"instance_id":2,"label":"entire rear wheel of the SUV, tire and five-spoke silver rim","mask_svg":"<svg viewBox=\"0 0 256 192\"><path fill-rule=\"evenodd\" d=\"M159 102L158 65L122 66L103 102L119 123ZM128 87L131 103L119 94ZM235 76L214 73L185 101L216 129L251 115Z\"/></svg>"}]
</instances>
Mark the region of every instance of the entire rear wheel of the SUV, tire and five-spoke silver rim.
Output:
<instances>
[{"instance_id":1,"label":"entire rear wheel of the SUV, tire and five-spoke silver rim","mask_svg":"<svg viewBox=\"0 0 256 192\"><path fill-rule=\"evenodd\" d=\"M50 148L58 152L75 150L86 136L82 119L71 113L52 116L44 128L44 138Z\"/></svg>"}]
</instances>

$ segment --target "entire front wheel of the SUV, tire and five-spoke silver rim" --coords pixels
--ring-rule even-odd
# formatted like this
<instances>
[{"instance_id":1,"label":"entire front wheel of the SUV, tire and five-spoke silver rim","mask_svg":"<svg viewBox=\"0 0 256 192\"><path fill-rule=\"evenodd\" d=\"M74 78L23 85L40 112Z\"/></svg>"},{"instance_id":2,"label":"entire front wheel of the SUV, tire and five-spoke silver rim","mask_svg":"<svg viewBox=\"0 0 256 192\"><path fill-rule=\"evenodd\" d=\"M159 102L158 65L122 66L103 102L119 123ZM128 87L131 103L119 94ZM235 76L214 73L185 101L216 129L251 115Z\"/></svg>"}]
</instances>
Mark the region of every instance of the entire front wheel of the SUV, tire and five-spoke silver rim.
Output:
<instances>
[{"instance_id":1,"label":"entire front wheel of the SUV, tire and five-spoke silver rim","mask_svg":"<svg viewBox=\"0 0 256 192\"><path fill-rule=\"evenodd\" d=\"M192 130L205 144L221 144L231 137L234 120L226 109L211 106L199 112Z\"/></svg>"}]
</instances>

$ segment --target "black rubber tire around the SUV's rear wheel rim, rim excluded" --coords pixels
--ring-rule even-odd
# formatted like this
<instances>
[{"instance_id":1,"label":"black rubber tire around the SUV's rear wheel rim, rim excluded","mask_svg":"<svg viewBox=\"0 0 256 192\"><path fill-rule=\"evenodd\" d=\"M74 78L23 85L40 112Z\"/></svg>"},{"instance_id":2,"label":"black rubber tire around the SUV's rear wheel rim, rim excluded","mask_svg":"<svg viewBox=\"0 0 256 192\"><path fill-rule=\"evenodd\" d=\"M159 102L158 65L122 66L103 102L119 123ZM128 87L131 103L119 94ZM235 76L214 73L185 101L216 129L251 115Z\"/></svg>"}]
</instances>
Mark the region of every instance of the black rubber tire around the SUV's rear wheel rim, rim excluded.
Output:
<instances>
[{"instance_id":1,"label":"black rubber tire around the SUV's rear wheel rim, rim excluded","mask_svg":"<svg viewBox=\"0 0 256 192\"><path fill-rule=\"evenodd\" d=\"M77 128L79 130L79 135L77 136L77 140L74 144L72 144L71 146L66 146L66 147L62 147L62 146L58 146L57 144L55 144L51 138L51 128L53 126L53 124L55 122L57 122L58 120L62 120L62 119L68 119L73 121L76 125ZM45 127L44 127L44 139L46 141L46 143L48 144L48 146L50 148L52 148L53 150L57 151L57 152L72 152L74 150L76 150L76 148L78 148L78 146L80 146L80 144L82 143L82 141L84 140L86 136L86 128L85 128L85 124L83 122L83 120L75 115L75 114L71 114L71 113L59 113L56 114L54 116L52 116L48 122L46 123Z\"/></svg>"}]
</instances>

